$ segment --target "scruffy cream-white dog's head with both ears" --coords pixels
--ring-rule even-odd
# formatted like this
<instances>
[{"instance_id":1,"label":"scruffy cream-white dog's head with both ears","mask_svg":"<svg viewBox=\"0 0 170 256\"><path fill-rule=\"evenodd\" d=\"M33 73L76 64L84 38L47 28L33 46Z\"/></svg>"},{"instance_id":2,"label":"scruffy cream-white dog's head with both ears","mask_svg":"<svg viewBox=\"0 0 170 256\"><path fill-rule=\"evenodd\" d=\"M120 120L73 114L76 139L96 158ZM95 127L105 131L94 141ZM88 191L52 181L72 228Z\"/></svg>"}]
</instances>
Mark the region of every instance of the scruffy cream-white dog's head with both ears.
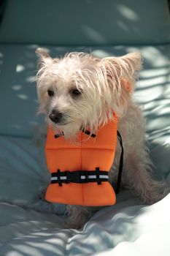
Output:
<instances>
[{"instance_id":1,"label":"scruffy cream-white dog's head with both ears","mask_svg":"<svg viewBox=\"0 0 170 256\"><path fill-rule=\"evenodd\" d=\"M96 132L113 113L125 114L134 92L136 70L142 68L140 53L96 59L88 53L69 53L52 59L37 49L39 112L47 124L65 138L75 138L81 127ZM126 84L130 84L130 91Z\"/></svg>"}]
</instances>

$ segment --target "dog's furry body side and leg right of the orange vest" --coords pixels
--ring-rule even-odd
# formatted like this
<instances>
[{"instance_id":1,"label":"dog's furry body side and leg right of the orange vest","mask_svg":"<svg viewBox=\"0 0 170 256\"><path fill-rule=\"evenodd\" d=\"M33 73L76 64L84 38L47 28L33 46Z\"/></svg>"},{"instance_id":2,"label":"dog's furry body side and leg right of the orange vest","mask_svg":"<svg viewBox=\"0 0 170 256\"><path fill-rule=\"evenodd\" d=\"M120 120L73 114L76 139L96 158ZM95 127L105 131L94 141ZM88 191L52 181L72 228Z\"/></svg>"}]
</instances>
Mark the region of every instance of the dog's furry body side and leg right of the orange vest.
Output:
<instances>
[{"instance_id":1,"label":"dog's furry body side and leg right of the orange vest","mask_svg":"<svg viewBox=\"0 0 170 256\"><path fill-rule=\"evenodd\" d=\"M144 203L155 203L167 195L165 181L156 181L152 176L152 162L150 160L144 138L145 121L142 110L133 104L129 105L125 117L120 120L119 131L123 138L124 166L123 185L140 195ZM114 165L119 165L118 155L120 146L117 143L117 152Z\"/></svg>"}]
</instances>

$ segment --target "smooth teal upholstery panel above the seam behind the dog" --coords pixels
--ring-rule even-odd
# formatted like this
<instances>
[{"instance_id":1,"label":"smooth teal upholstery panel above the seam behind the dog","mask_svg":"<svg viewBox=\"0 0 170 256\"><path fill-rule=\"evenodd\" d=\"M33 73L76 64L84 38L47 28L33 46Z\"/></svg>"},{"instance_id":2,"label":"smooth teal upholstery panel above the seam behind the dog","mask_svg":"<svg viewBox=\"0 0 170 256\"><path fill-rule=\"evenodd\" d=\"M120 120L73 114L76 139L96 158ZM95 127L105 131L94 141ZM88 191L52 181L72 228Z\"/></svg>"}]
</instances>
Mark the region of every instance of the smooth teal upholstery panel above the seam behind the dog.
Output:
<instances>
[{"instance_id":1,"label":"smooth teal upholstery panel above the seam behind the dog","mask_svg":"<svg viewBox=\"0 0 170 256\"><path fill-rule=\"evenodd\" d=\"M170 40L166 0L8 0L0 42L144 45Z\"/></svg>"}]
</instances>

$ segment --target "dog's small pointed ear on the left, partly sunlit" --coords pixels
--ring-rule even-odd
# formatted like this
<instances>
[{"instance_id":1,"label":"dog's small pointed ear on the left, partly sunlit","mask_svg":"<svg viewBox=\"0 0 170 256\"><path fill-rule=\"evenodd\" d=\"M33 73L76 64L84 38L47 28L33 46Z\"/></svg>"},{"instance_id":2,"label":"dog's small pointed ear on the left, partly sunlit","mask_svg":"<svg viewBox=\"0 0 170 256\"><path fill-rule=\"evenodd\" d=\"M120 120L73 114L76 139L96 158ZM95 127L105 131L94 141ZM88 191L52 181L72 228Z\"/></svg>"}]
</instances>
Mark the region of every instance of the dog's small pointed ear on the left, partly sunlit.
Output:
<instances>
[{"instance_id":1,"label":"dog's small pointed ear on the left, partly sunlit","mask_svg":"<svg viewBox=\"0 0 170 256\"><path fill-rule=\"evenodd\" d=\"M47 66L52 63L53 59L50 57L50 55L47 53L47 50L42 48L36 49L36 55L39 58L38 62L38 68L41 69L44 66Z\"/></svg>"}]
</instances>

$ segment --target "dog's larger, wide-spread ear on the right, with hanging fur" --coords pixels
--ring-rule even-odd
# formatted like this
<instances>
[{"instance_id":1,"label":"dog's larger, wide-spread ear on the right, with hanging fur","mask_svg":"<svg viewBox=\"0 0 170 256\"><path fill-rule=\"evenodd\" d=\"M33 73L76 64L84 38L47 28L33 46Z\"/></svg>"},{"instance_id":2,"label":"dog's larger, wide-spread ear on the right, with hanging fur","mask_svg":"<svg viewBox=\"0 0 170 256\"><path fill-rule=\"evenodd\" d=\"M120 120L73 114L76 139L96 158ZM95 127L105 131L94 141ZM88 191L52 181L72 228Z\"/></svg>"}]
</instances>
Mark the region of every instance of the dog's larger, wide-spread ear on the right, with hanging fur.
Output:
<instances>
[{"instance_id":1,"label":"dog's larger, wide-spread ear on the right, with hanging fur","mask_svg":"<svg viewBox=\"0 0 170 256\"><path fill-rule=\"evenodd\" d=\"M128 100L136 87L136 71L142 69L141 53L128 53L121 57L101 59L99 67L103 74L105 87L111 95L113 112L123 116L127 110Z\"/></svg>"}]
</instances>

